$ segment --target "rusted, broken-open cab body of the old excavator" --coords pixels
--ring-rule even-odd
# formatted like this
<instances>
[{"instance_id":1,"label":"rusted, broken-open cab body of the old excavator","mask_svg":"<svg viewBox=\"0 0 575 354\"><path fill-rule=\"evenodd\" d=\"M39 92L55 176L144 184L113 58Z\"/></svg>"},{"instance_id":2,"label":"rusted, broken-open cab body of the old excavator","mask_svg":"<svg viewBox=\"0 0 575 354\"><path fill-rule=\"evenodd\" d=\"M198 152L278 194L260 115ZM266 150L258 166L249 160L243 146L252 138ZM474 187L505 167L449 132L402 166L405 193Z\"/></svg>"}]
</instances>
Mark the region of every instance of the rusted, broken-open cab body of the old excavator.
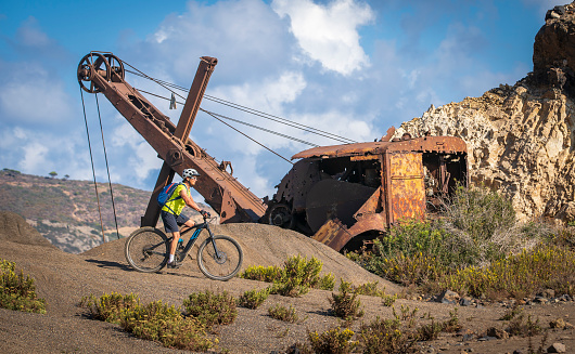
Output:
<instances>
[{"instance_id":1,"label":"rusted, broken-open cab body of the old excavator","mask_svg":"<svg viewBox=\"0 0 575 354\"><path fill-rule=\"evenodd\" d=\"M426 206L452 192L457 181L468 184L461 139L387 139L294 155L301 160L278 185L266 221L312 235L337 251L357 249L394 223L423 219Z\"/></svg>"}]
</instances>

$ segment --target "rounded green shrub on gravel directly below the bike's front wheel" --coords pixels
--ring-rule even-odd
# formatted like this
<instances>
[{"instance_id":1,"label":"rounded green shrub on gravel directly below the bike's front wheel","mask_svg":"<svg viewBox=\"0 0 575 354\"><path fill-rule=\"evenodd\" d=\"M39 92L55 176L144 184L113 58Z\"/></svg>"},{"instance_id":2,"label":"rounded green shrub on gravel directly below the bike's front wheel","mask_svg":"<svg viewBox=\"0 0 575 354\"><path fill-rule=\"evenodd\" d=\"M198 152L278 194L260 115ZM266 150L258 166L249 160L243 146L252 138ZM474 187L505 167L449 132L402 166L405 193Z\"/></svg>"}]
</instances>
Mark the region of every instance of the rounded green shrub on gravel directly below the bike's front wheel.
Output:
<instances>
[{"instance_id":1,"label":"rounded green shrub on gravel directly below the bike's front wheel","mask_svg":"<svg viewBox=\"0 0 575 354\"><path fill-rule=\"evenodd\" d=\"M235 299L227 291L220 294L206 290L194 292L183 300L186 314L196 318L207 328L233 323L238 316Z\"/></svg>"}]
</instances>

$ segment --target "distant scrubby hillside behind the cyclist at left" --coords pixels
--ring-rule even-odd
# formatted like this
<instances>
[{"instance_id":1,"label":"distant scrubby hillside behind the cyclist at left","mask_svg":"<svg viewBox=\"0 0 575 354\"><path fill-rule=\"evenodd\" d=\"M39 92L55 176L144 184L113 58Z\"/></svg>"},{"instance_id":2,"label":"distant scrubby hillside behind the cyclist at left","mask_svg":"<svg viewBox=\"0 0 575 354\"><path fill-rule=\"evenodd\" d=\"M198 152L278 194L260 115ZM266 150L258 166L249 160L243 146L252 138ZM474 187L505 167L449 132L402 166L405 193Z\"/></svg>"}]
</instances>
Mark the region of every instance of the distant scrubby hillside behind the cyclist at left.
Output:
<instances>
[{"instance_id":1,"label":"distant scrubby hillside behind the cyclist at left","mask_svg":"<svg viewBox=\"0 0 575 354\"><path fill-rule=\"evenodd\" d=\"M117 235L110 185L98 183L97 186L104 234L106 240L113 240ZM140 227L140 218L145 212L151 192L113 183L112 193L119 236L129 236ZM22 215L63 251L80 253L103 244L95 188L91 181L44 178L3 169L0 171L0 211Z\"/></svg>"}]
</instances>

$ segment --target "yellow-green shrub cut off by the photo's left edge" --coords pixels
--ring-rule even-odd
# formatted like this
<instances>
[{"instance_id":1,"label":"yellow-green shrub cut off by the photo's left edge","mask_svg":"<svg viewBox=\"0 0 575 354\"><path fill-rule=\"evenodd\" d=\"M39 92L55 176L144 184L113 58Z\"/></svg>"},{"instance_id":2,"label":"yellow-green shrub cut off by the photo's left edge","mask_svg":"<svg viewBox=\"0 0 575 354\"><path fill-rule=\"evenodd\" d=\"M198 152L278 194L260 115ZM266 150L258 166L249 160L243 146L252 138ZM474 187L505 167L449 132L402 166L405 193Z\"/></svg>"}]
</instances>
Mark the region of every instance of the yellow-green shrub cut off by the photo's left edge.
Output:
<instances>
[{"instance_id":1,"label":"yellow-green shrub cut off by the photo's left edge","mask_svg":"<svg viewBox=\"0 0 575 354\"><path fill-rule=\"evenodd\" d=\"M22 271L17 275L14 262L0 261L0 307L44 314L46 301L38 299L34 279Z\"/></svg>"}]
</instances>

